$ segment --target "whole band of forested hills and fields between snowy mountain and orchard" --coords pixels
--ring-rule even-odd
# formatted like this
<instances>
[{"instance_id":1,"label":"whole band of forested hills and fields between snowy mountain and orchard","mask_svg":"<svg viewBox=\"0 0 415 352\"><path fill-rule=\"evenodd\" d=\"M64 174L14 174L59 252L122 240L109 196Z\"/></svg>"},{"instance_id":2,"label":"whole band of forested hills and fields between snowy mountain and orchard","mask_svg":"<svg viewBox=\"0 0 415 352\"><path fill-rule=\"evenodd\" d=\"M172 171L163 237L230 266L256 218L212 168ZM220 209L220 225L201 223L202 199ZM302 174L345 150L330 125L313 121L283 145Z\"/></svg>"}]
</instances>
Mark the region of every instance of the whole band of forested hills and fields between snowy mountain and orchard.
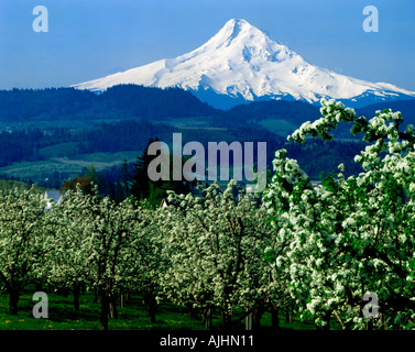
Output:
<instances>
[{"instance_id":1,"label":"whole band of forested hills and fields between snowy mountain and orchard","mask_svg":"<svg viewBox=\"0 0 415 352\"><path fill-rule=\"evenodd\" d=\"M370 119L384 108L401 111L405 123L415 124L415 100L378 103L357 113ZM171 145L175 132L183 134L183 144L198 141L205 147L220 141L266 142L269 165L274 152L285 147L313 179L320 172L337 170L341 162L347 174L359 173L353 156L365 145L350 141L349 124L339 125L335 142L286 141L303 122L320 117L319 107L301 101L258 101L217 110L179 88L125 85L100 95L73 88L3 90L0 175L58 188L84 167L103 170L124 160L133 162L151 138ZM59 121L67 123L55 125ZM11 187L11 183L0 187Z\"/></svg>"}]
</instances>

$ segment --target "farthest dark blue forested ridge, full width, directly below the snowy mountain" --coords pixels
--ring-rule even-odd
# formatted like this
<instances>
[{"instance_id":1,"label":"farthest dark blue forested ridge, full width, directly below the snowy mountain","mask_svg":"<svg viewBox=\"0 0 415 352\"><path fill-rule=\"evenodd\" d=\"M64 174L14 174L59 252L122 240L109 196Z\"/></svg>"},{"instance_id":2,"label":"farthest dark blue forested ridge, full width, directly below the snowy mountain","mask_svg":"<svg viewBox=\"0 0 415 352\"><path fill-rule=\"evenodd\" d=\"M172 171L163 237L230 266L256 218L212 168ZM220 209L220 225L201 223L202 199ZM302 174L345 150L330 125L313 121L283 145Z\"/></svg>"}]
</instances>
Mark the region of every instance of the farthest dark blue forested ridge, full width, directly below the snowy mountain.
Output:
<instances>
[{"instance_id":1,"label":"farthest dark blue forested ridge, full width, directly below the snowy mountain","mask_svg":"<svg viewBox=\"0 0 415 352\"><path fill-rule=\"evenodd\" d=\"M402 111L405 121L415 123L415 100L390 101L357 109L368 118L375 110ZM229 110L214 109L181 88L149 88L120 85L102 94L74 88L0 90L0 122L94 121L145 118L149 120L214 118L222 127L280 121L294 128L320 117L319 107L301 101L272 100L243 103ZM273 121L273 122L270 122Z\"/></svg>"}]
</instances>

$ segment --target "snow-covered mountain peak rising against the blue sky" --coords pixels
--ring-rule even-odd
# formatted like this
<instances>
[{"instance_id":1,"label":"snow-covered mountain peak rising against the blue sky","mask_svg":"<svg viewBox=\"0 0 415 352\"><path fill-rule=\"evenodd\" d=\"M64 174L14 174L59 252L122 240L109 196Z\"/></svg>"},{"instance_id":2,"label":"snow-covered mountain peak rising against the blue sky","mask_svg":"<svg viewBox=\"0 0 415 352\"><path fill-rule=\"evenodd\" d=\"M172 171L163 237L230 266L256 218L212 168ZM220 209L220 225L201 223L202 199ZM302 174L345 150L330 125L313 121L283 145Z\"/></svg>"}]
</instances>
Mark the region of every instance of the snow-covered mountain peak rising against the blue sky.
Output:
<instances>
[{"instance_id":1,"label":"snow-covered mountain peak rising against the blue sky","mask_svg":"<svg viewBox=\"0 0 415 352\"><path fill-rule=\"evenodd\" d=\"M374 84L312 65L245 20L234 19L190 53L73 87L103 91L121 84L181 87L214 107L264 99L314 103L321 97L363 106L415 97L415 92L390 84Z\"/></svg>"}]
</instances>

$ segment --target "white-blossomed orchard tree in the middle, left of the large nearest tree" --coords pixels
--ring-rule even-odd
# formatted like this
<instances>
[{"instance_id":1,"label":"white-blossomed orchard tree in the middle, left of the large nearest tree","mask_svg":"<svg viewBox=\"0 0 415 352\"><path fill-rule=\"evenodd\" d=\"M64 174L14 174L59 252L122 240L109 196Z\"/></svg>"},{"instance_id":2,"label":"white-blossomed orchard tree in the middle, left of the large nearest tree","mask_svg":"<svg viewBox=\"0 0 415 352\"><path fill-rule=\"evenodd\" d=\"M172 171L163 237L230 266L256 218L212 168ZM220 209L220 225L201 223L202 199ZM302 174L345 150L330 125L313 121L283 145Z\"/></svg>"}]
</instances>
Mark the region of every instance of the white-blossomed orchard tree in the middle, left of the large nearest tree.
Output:
<instances>
[{"instance_id":1,"label":"white-blossomed orchard tree in the middle, left of the large nearest tree","mask_svg":"<svg viewBox=\"0 0 415 352\"><path fill-rule=\"evenodd\" d=\"M225 329L269 297L269 266L262 253L272 232L265 209L256 207L252 196L236 196L234 187L230 182L221 194L212 184L203 201L171 193L176 208L168 210L173 228L165 244L170 266L163 282L168 297L207 314L219 309ZM232 321L236 308L243 314Z\"/></svg>"}]
</instances>

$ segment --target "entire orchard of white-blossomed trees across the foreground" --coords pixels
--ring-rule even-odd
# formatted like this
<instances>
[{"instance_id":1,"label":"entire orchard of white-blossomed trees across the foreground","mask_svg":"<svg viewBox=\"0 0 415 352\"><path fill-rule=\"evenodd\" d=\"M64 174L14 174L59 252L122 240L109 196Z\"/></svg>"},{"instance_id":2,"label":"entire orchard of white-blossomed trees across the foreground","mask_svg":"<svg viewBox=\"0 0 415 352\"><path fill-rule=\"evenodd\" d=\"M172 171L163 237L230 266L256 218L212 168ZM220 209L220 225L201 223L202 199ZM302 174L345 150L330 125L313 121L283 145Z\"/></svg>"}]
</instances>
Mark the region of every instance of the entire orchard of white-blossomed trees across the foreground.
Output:
<instances>
[{"instance_id":1,"label":"entire orchard of white-blossomed trees across the foreground","mask_svg":"<svg viewBox=\"0 0 415 352\"><path fill-rule=\"evenodd\" d=\"M265 310L318 329L414 329L415 129L401 131L400 112L367 120L336 100L323 99L320 112L288 140L330 141L349 123L367 142L354 157L359 175L346 177L340 164L316 185L280 150L261 195L215 183L203 197L171 191L168 206L154 209L77 187L47 209L32 190L0 193L0 282L10 314L36 283L70 290L75 310L81 293L94 292L102 329L132 294L143 297L151 321L168 300L201 315L206 329L214 312L222 329L247 318L255 329Z\"/></svg>"}]
</instances>

